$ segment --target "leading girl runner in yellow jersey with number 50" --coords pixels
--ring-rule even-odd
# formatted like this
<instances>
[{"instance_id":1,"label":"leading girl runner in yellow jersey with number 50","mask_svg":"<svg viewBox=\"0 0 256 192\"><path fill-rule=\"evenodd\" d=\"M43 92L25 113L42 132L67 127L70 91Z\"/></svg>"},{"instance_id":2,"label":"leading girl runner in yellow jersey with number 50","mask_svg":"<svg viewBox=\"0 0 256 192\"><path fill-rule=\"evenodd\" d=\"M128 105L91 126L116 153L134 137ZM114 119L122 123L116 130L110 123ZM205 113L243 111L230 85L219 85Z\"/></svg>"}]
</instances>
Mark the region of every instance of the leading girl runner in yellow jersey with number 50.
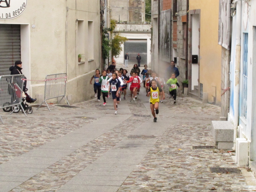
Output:
<instances>
[{"instance_id":1,"label":"leading girl runner in yellow jersey with number 50","mask_svg":"<svg viewBox=\"0 0 256 192\"><path fill-rule=\"evenodd\" d=\"M154 122L156 122L157 118L156 118L156 114L159 113L159 96L163 95L163 100L165 99L164 97L164 91L162 90L161 87L157 86L157 81L155 79L152 79L151 81L151 85L152 87L150 87L150 89L148 90L148 94L147 96L150 96L150 109L152 112L152 115L154 116ZM156 109L156 113L155 113L155 109Z\"/></svg>"}]
</instances>

